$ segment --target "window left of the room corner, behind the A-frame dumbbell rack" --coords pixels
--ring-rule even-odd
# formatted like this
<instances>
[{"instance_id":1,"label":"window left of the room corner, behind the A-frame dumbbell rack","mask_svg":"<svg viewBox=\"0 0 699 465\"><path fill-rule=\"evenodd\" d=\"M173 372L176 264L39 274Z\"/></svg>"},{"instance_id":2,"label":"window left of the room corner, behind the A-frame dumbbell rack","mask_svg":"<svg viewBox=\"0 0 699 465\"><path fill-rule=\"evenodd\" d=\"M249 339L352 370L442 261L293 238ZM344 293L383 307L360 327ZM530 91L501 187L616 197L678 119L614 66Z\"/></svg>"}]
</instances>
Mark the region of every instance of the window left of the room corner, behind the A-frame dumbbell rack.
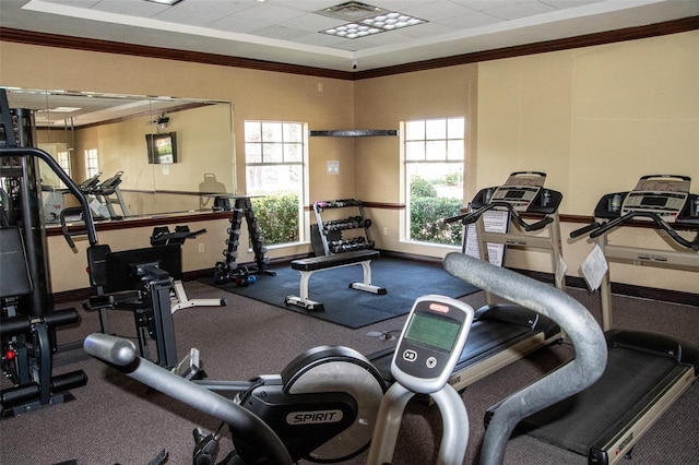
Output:
<instances>
[{"instance_id":1,"label":"window left of the room corner, behind the A-frame dumbbell rack","mask_svg":"<svg viewBox=\"0 0 699 465\"><path fill-rule=\"evenodd\" d=\"M246 178L266 245L303 239L306 124L246 121Z\"/></svg>"}]
</instances>

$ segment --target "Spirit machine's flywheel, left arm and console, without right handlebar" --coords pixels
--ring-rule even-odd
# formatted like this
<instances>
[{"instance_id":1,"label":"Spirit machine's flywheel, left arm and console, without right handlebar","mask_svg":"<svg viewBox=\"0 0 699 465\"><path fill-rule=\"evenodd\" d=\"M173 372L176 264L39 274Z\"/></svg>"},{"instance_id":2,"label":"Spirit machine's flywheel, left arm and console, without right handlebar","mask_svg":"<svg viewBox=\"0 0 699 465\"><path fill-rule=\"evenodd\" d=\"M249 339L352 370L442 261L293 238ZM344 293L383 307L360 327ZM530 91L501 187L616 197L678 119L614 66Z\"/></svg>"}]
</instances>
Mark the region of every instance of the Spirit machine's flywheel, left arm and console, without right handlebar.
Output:
<instances>
[{"instance_id":1,"label":"Spirit machine's flywheel, left arm and console, without right handlebar","mask_svg":"<svg viewBox=\"0 0 699 465\"><path fill-rule=\"evenodd\" d=\"M291 463L286 457L275 456L274 449L270 449L272 444L262 445L260 440L240 433L236 424L232 424L237 410L245 412L242 417L252 414L271 428L279 438L273 442L279 445L281 441L293 462L300 458L343 462L366 450L372 441L380 445L372 449L374 458L369 461L384 463L393 455L403 410L416 394L433 396L440 408L443 418L440 463L459 465L466 449L469 420L461 397L447 380L463 349L472 320L473 309L464 302L442 296L417 299L391 367L396 382L388 392L381 374L364 356L341 346L312 348L292 360L279 375L244 382L196 380L196 351L177 370L194 380L187 382L137 357L135 346L128 339L95 333L85 339L85 350L120 367L129 377L224 421L212 434L194 430L196 465L216 463L217 442L226 424L233 430L235 450L220 465ZM235 400L216 392L235 394Z\"/></svg>"}]
</instances>

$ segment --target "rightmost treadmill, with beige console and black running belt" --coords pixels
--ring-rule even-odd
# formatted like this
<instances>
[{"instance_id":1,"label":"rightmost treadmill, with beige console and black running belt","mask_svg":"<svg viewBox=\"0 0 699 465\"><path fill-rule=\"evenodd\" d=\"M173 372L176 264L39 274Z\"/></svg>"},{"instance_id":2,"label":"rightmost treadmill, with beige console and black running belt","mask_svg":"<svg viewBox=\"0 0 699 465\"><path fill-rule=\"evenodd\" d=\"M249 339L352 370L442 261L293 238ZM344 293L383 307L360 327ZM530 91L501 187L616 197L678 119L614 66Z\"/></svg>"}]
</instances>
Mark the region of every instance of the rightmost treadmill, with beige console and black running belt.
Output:
<instances>
[{"instance_id":1,"label":"rightmost treadmill, with beige console and black running belt","mask_svg":"<svg viewBox=\"0 0 699 465\"><path fill-rule=\"evenodd\" d=\"M677 229L699 225L699 195L689 193L683 176L644 176L629 192L609 193L595 207L595 222L571 233L596 238L607 262L699 271L699 234L694 240ZM608 243L619 226L652 223L675 250ZM674 227L673 227L674 225ZM518 431L588 456L589 464L614 464L633 445L699 374L697 345L657 333L612 326L609 272L601 284L603 329L608 360L589 389L532 415ZM486 413L486 426L497 405Z\"/></svg>"}]
</instances>

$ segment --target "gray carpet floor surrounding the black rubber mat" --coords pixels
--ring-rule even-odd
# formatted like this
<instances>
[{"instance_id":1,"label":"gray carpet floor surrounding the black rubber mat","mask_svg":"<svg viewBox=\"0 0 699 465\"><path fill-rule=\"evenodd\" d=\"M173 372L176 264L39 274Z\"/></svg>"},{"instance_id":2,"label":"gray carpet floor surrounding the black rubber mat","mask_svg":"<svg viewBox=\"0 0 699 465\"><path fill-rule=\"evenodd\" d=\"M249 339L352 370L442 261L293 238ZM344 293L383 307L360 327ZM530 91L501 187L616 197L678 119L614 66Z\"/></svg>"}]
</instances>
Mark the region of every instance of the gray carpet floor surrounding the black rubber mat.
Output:
<instances>
[{"instance_id":1,"label":"gray carpet floor surrounding the black rubber mat","mask_svg":"<svg viewBox=\"0 0 699 465\"><path fill-rule=\"evenodd\" d=\"M178 354L201 350L211 379L245 380L275 373L295 355L321 344L346 345L371 354L394 343L372 334L398 331L405 317L351 330L283 310L210 286L186 284L189 298L226 298L226 307L191 308L175 314ZM599 296L570 289L599 319ZM474 308L482 293L464 297ZM64 308L67 306L60 306ZM655 331L699 344L699 308L614 297L617 327ZM79 326L59 331L59 343L80 341L98 330L95 313L83 313ZM133 337L132 315L111 312L118 334ZM568 344L540 350L471 385L462 397L471 420L464 464L478 462L483 415L493 404L573 356ZM213 430L216 422L159 393L149 391L78 350L57 355L56 373L76 368L90 377L73 391L76 400L0 421L0 464L50 465L79 460L87 465L146 464L161 449L169 464L190 464L197 426ZM7 380L2 380L7 388ZM699 385L692 385L633 449L629 465L699 463ZM411 402L403 419L394 464L434 462L440 420L436 407ZM229 440L222 443L226 451ZM220 455L220 458L223 454ZM366 453L345 462L363 464ZM584 464L585 458L529 437L508 443L506 464Z\"/></svg>"}]
</instances>

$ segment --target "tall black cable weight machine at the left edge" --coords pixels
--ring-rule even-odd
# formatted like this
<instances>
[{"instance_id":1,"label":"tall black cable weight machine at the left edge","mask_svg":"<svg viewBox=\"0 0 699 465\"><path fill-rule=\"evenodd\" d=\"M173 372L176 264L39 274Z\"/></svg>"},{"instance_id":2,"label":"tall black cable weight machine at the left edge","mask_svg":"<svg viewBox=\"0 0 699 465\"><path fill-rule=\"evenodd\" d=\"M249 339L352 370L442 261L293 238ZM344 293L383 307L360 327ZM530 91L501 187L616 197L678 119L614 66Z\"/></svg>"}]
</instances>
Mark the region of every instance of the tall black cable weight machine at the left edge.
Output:
<instances>
[{"instance_id":1,"label":"tall black cable weight machine at the left edge","mask_svg":"<svg viewBox=\"0 0 699 465\"><path fill-rule=\"evenodd\" d=\"M39 160L66 183L81 204L91 246L97 237L90 206L78 186L50 155L32 148L28 110L10 110L0 90L0 336L2 370L13 386L0 392L2 418L73 400L87 382L82 370L52 375L55 330L80 321L75 309L55 310L50 296ZM67 230L67 228L64 228ZM69 245L72 240L66 236Z\"/></svg>"}]
</instances>

